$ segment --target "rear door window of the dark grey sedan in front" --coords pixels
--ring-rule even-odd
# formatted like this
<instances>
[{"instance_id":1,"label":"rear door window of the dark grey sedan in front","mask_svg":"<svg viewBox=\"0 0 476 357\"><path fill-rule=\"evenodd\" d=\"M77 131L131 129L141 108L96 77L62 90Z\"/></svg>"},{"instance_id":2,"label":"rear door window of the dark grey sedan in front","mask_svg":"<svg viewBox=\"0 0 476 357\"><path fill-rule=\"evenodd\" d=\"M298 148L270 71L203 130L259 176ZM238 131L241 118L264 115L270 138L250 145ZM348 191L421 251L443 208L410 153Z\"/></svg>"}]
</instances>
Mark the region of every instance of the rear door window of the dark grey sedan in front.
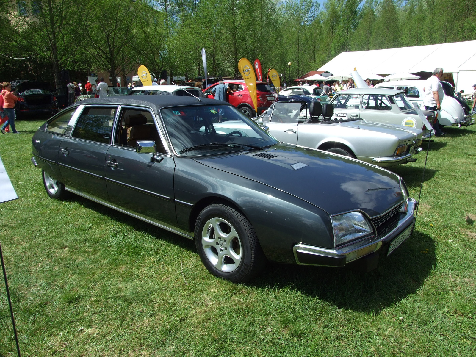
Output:
<instances>
[{"instance_id":1,"label":"rear door window of the dark grey sedan in front","mask_svg":"<svg viewBox=\"0 0 476 357\"><path fill-rule=\"evenodd\" d=\"M109 144L116 111L117 107L86 107L72 137Z\"/></svg>"}]
</instances>

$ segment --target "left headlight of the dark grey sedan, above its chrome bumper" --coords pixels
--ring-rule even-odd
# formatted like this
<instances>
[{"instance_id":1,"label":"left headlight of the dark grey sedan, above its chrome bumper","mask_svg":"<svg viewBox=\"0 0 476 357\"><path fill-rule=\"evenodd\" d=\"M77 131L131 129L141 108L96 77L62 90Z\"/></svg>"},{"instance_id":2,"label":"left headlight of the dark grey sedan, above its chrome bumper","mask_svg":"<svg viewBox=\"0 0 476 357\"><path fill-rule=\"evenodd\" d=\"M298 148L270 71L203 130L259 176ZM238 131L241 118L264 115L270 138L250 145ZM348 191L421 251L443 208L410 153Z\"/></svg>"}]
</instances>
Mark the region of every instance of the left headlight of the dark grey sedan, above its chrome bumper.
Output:
<instances>
[{"instance_id":1,"label":"left headlight of the dark grey sedan, above its chrome bumper","mask_svg":"<svg viewBox=\"0 0 476 357\"><path fill-rule=\"evenodd\" d=\"M374 231L370 223L360 212L344 213L331 217L331 219L336 246L364 237Z\"/></svg>"}]
</instances>

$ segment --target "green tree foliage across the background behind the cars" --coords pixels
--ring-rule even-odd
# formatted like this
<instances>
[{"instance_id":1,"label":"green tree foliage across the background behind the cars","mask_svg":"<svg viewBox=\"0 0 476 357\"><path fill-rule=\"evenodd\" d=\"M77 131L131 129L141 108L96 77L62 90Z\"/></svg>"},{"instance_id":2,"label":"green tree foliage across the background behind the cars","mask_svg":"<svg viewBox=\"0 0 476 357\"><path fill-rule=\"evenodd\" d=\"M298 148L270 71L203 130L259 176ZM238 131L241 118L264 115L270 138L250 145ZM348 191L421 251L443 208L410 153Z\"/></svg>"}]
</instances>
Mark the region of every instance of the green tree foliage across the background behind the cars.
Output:
<instances>
[{"instance_id":1,"label":"green tree foliage across the background behind the cars","mask_svg":"<svg viewBox=\"0 0 476 357\"><path fill-rule=\"evenodd\" d=\"M322 6L317 0L0 0L0 5L0 75L44 78L49 72L57 86L64 85L64 69L109 72L114 83L139 64L156 77L167 70L196 78L203 75L202 48L212 76L237 77L241 57L258 58L265 76L275 68L289 83L289 77L315 70L342 51L476 39L475 0L327 0Z\"/></svg>"}]
</instances>

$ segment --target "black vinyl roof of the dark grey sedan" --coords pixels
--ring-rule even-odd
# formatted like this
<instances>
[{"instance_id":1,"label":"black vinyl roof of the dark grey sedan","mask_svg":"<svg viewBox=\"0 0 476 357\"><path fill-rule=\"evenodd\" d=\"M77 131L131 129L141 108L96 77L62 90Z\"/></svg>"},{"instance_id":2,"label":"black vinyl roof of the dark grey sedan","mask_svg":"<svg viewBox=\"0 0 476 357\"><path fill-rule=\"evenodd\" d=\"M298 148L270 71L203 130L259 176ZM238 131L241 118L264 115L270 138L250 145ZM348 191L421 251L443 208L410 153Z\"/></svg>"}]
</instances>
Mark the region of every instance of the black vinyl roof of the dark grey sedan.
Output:
<instances>
[{"instance_id":1,"label":"black vinyl roof of the dark grey sedan","mask_svg":"<svg viewBox=\"0 0 476 357\"><path fill-rule=\"evenodd\" d=\"M181 96L113 96L108 98L85 99L76 102L74 105L84 104L117 104L117 105L139 105L153 109L159 112L166 107L185 106L185 105L221 105L228 104L222 100L200 98L200 101L194 97Z\"/></svg>"}]
</instances>

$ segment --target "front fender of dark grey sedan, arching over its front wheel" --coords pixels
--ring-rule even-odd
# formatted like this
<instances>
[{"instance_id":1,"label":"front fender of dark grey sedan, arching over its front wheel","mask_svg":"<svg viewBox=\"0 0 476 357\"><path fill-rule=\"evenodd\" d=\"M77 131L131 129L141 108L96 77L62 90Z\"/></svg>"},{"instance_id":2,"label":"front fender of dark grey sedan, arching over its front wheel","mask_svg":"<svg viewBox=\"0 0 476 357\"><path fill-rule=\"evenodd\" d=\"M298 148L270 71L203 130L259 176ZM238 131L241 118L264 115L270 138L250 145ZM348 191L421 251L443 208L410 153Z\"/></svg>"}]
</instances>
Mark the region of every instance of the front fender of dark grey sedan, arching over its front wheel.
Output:
<instances>
[{"instance_id":1,"label":"front fender of dark grey sedan, arching over its front wheel","mask_svg":"<svg viewBox=\"0 0 476 357\"><path fill-rule=\"evenodd\" d=\"M203 175L204 171L207 175ZM276 188L196 160L176 160L174 191L181 229L193 229L196 217L208 204L229 202L253 225L270 260L295 262L292 247L301 242L323 248L334 246L326 211Z\"/></svg>"}]
</instances>

